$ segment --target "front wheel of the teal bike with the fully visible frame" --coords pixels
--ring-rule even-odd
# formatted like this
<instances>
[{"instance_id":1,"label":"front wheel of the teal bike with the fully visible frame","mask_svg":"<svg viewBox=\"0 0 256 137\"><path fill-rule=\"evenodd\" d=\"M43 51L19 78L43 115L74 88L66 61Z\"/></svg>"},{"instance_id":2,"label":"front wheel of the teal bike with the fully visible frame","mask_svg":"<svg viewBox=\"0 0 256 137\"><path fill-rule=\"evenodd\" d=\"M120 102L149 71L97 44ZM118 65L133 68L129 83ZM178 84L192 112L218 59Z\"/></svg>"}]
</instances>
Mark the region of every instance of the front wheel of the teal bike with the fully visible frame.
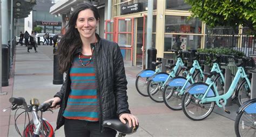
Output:
<instances>
[{"instance_id":1,"label":"front wheel of the teal bike with the fully visible frame","mask_svg":"<svg viewBox=\"0 0 256 137\"><path fill-rule=\"evenodd\" d=\"M237 97L238 97L237 104L239 106L241 106L247 100L250 100L250 98L251 98L251 89L250 89L250 86L247 84L246 80L243 80L241 82L237 92L238 92L237 93Z\"/></svg>"}]
</instances>

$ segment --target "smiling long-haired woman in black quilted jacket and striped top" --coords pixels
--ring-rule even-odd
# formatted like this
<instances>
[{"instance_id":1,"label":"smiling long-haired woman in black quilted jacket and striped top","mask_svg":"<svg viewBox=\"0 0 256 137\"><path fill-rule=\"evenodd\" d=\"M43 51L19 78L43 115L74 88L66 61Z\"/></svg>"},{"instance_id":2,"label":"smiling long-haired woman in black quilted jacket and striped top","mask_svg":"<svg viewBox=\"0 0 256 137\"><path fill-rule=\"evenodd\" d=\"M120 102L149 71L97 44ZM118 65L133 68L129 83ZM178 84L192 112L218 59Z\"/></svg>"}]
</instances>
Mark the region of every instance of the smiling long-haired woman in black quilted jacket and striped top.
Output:
<instances>
[{"instance_id":1,"label":"smiling long-haired woman in black quilted jacket and striped top","mask_svg":"<svg viewBox=\"0 0 256 137\"><path fill-rule=\"evenodd\" d=\"M89 3L80 4L70 16L60 39L57 55L65 82L53 100L60 106L57 127L64 125L65 136L116 136L102 126L103 120L119 118L138 125L127 102L124 61L118 44L96 33L99 12Z\"/></svg>"}]
</instances>

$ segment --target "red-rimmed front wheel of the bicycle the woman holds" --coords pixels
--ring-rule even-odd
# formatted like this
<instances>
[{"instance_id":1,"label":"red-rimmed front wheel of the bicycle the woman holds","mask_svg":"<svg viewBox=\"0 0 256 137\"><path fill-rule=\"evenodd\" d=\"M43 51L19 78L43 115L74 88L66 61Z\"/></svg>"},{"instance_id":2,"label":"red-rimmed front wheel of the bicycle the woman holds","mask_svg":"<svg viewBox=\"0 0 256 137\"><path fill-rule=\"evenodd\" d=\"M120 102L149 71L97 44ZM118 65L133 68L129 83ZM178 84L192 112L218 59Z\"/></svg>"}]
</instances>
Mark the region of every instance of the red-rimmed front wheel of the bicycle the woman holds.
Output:
<instances>
[{"instance_id":1,"label":"red-rimmed front wheel of the bicycle the woman holds","mask_svg":"<svg viewBox=\"0 0 256 137\"><path fill-rule=\"evenodd\" d=\"M43 120L43 125L42 126L43 126L43 131L41 131L41 134L39 136L54 137L53 128L52 128L51 124L48 121ZM34 135L34 133L33 133L34 128L35 128L35 125L33 124L33 121L31 120L29 122L29 124L26 125L26 127L23 131L23 136L24 137L30 137L30 136L32 137Z\"/></svg>"}]
</instances>

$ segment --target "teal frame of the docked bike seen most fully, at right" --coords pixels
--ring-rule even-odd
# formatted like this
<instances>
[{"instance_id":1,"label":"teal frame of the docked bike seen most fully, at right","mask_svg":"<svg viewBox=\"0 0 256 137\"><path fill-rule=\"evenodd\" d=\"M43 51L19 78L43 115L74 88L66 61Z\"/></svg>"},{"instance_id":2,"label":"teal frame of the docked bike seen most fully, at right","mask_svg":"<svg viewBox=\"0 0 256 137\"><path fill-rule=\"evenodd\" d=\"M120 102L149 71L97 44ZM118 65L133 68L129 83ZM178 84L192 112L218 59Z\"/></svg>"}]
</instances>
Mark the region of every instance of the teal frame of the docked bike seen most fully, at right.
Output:
<instances>
[{"instance_id":1,"label":"teal frame of the docked bike seen most fully, at right","mask_svg":"<svg viewBox=\"0 0 256 137\"><path fill-rule=\"evenodd\" d=\"M248 79L247 74L245 73L245 69L242 67L238 67L238 70L237 70L237 73L235 74L234 80L232 81L230 88L224 95L219 96L219 93L218 93L215 83L211 82L199 103L203 104L203 103L207 103L207 102L215 102L219 107L222 107L222 105L219 103L219 100L224 99L224 105L226 105L227 99L232 96L232 93L235 91L235 87L238 84L240 78L245 78L247 84L250 86L250 89L251 89L251 82ZM212 86L214 89L215 97L207 97L208 93L212 94L211 93Z\"/></svg>"}]
</instances>

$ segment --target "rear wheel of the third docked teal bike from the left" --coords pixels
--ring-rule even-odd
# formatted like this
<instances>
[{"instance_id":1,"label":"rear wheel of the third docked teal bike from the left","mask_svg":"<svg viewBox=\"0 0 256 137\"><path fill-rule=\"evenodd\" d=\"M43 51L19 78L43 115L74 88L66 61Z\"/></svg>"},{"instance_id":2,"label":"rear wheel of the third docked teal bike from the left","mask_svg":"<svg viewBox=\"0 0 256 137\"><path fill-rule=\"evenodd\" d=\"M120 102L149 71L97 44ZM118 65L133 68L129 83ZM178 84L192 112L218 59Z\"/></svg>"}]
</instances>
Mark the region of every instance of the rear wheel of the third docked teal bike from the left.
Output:
<instances>
[{"instance_id":1,"label":"rear wheel of the third docked teal bike from the left","mask_svg":"<svg viewBox=\"0 0 256 137\"><path fill-rule=\"evenodd\" d=\"M186 78L175 77L171 81L166 83L166 86L163 91L164 103L167 107L169 107L169 109L172 109L172 110L181 110L182 109L182 106L181 106L182 96L179 96L178 94L181 92L181 89L184 86L184 84L177 86L177 84L175 84L175 82L174 82L175 80L178 80L180 78L181 78L181 80L183 79L184 81L186 81ZM173 85L172 82L176 86L170 86L170 84ZM187 85L190 85L190 84L191 83L189 82Z\"/></svg>"}]
</instances>

